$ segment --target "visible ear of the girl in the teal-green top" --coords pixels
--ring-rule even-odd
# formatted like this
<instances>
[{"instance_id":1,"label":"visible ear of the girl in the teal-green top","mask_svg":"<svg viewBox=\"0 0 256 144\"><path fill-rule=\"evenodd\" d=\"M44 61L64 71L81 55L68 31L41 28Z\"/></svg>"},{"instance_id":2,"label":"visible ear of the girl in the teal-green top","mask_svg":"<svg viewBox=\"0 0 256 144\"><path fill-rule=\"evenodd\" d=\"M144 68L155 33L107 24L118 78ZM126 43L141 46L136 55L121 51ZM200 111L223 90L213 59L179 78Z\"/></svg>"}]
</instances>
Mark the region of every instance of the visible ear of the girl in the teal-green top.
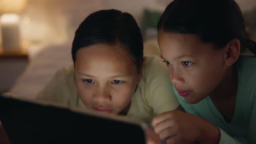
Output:
<instances>
[{"instance_id":1,"label":"visible ear of the girl in the teal-green top","mask_svg":"<svg viewBox=\"0 0 256 144\"><path fill-rule=\"evenodd\" d=\"M232 39L229 43L225 46L225 64L232 65L234 64L239 55L240 55L240 40Z\"/></svg>"}]
</instances>

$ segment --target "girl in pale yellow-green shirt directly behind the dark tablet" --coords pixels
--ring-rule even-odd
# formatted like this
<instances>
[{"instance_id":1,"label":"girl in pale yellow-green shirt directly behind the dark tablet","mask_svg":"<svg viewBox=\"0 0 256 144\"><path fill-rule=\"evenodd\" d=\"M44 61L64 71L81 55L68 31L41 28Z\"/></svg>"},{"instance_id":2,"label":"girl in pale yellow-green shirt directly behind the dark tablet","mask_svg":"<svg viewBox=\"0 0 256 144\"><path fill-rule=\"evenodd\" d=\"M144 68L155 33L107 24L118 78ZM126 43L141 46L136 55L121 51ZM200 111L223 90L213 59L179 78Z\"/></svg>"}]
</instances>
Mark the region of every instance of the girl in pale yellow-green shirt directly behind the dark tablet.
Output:
<instances>
[{"instance_id":1,"label":"girl in pale yellow-green shirt directly behind the dark tablet","mask_svg":"<svg viewBox=\"0 0 256 144\"><path fill-rule=\"evenodd\" d=\"M100 10L86 17L72 58L74 65L57 71L37 99L147 123L179 106L161 58L143 57L141 31L128 13Z\"/></svg>"}]
</instances>

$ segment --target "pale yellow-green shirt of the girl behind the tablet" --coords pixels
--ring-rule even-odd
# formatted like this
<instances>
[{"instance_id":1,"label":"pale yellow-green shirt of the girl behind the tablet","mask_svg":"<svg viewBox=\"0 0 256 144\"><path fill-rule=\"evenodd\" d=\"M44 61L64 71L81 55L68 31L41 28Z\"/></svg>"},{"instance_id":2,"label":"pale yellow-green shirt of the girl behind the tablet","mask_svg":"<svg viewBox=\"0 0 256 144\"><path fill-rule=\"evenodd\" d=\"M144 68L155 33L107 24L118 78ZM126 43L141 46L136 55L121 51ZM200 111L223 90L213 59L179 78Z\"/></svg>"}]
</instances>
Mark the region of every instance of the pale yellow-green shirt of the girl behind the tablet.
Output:
<instances>
[{"instance_id":1,"label":"pale yellow-green shirt of the girl behind the tablet","mask_svg":"<svg viewBox=\"0 0 256 144\"><path fill-rule=\"evenodd\" d=\"M168 77L166 65L158 56L145 58L142 80L139 82L127 117L151 122L153 116L171 111L179 103L174 96L172 84ZM74 66L57 71L53 79L40 92L36 99L54 101L56 103L86 109L78 96L74 81Z\"/></svg>"}]
</instances>

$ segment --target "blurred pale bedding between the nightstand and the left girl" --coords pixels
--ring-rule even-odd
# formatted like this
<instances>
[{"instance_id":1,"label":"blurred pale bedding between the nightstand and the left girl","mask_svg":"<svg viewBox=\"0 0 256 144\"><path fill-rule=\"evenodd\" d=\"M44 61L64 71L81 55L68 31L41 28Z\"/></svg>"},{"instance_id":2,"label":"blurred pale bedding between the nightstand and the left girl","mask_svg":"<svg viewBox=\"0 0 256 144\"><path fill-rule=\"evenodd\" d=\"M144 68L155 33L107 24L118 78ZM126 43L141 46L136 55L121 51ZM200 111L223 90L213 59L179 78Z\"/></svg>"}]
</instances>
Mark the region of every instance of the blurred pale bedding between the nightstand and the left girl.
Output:
<instances>
[{"instance_id":1,"label":"blurred pale bedding between the nightstand and the left girl","mask_svg":"<svg viewBox=\"0 0 256 144\"><path fill-rule=\"evenodd\" d=\"M42 50L30 58L30 63L10 92L21 97L33 98L49 82L57 69L68 67L72 63L71 44L42 47Z\"/></svg>"}]
</instances>

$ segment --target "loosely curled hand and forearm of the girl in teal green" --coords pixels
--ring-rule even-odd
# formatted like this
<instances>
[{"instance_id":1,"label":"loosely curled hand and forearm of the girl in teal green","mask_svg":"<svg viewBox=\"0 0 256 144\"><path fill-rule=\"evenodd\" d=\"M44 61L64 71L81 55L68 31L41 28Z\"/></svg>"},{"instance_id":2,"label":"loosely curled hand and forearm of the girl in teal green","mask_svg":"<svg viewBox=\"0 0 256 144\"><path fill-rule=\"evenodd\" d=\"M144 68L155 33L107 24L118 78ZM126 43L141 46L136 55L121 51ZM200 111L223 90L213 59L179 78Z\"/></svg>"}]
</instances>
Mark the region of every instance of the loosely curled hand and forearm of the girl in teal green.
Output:
<instances>
[{"instance_id":1,"label":"loosely curled hand and forearm of the girl in teal green","mask_svg":"<svg viewBox=\"0 0 256 144\"><path fill-rule=\"evenodd\" d=\"M200 117L174 110L161 113L152 121L155 133L166 143L218 143L218 127Z\"/></svg>"}]
</instances>

